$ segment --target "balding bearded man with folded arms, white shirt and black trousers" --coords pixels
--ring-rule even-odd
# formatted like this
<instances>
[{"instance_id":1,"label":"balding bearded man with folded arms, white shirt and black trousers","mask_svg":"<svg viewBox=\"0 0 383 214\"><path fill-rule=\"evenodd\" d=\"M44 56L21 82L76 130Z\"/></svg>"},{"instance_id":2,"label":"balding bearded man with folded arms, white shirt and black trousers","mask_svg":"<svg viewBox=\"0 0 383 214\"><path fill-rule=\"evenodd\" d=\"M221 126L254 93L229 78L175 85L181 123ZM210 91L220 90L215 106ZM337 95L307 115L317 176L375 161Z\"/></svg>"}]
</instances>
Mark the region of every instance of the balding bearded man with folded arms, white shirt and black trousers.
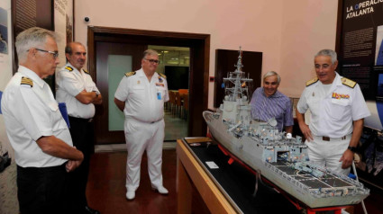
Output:
<instances>
[{"instance_id":1,"label":"balding bearded man with folded arms, white shirt and black trousers","mask_svg":"<svg viewBox=\"0 0 383 214\"><path fill-rule=\"evenodd\" d=\"M91 121L96 112L95 104L101 104L103 100L89 72L83 69L87 60L84 45L79 42L68 43L65 57L68 63L59 70L56 99L59 103L67 104L73 145L84 154L82 165L69 175L69 182L75 187L72 189L74 202L70 206L76 213L98 214L98 210L87 205L86 191L90 155L94 146L94 127Z\"/></svg>"}]
</instances>

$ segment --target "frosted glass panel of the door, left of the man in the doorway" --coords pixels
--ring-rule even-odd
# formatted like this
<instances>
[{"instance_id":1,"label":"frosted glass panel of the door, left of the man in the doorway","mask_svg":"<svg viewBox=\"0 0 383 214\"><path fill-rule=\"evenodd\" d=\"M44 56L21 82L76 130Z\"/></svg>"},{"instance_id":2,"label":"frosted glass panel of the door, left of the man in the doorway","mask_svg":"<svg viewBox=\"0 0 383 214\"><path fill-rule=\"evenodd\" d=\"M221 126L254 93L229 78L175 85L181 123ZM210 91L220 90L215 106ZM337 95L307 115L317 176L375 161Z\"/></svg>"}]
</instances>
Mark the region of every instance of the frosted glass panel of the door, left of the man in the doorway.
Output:
<instances>
[{"instance_id":1,"label":"frosted glass panel of the door, left of the man in the doorway","mask_svg":"<svg viewBox=\"0 0 383 214\"><path fill-rule=\"evenodd\" d=\"M108 127L110 131L123 130L123 120L125 116L114 104L114 93L126 72L132 71L132 56L128 55L109 55L108 56Z\"/></svg>"}]
</instances>

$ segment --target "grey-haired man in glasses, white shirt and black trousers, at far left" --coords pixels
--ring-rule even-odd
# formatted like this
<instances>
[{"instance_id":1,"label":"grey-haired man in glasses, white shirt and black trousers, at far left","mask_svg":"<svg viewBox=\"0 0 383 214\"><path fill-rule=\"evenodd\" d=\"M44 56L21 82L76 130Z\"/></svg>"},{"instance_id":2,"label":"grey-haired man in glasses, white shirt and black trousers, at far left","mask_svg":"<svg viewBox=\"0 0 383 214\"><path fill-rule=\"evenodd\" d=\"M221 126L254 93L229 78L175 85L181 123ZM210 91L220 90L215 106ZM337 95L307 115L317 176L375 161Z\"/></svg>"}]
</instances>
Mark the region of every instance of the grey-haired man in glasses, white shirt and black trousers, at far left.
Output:
<instances>
[{"instance_id":1,"label":"grey-haired man in glasses, white shirt and black trousers, at far left","mask_svg":"<svg viewBox=\"0 0 383 214\"><path fill-rule=\"evenodd\" d=\"M2 111L6 132L17 164L17 197L20 212L68 213L68 172L83 160L72 147L50 86L43 78L59 64L54 32L31 28L15 42L18 72L5 88ZM16 211L17 212L17 211Z\"/></svg>"}]
</instances>

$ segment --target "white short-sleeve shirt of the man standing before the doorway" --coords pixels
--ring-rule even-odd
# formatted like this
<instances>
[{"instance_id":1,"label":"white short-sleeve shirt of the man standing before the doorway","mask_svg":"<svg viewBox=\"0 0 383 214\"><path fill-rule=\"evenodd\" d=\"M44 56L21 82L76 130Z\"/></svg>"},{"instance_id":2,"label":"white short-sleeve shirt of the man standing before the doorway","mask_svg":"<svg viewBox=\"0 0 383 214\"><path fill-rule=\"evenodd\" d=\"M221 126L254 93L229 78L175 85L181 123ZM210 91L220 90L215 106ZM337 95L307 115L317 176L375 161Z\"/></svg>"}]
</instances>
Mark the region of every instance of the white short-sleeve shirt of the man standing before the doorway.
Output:
<instances>
[{"instance_id":1,"label":"white short-sleeve shirt of the man standing before the doorway","mask_svg":"<svg viewBox=\"0 0 383 214\"><path fill-rule=\"evenodd\" d=\"M132 74L123 76L114 94L116 99L125 102L125 117L142 122L162 120L164 103L169 101L166 78L154 73L149 82L142 68Z\"/></svg>"}]
</instances>

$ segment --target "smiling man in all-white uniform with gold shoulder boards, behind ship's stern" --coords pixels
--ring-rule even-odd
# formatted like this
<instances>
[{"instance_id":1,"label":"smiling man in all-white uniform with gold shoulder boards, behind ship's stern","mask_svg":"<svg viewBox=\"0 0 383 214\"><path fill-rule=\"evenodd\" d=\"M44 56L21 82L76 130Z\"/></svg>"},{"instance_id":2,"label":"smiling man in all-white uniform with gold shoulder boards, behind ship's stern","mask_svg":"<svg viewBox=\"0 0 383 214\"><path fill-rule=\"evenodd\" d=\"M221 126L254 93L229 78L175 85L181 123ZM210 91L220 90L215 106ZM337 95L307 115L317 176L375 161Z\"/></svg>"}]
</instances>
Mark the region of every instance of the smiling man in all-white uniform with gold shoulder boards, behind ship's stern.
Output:
<instances>
[{"instance_id":1,"label":"smiling man in all-white uniform with gold shoulder boards, behind ship's stern","mask_svg":"<svg viewBox=\"0 0 383 214\"><path fill-rule=\"evenodd\" d=\"M316 78L306 83L297 104L296 119L306 138L310 161L348 175L358 146L363 120L370 115L360 86L338 75L336 52L315 55ZM305 111L311 111L310 126Z\"/></svg>"}]
</instances>

